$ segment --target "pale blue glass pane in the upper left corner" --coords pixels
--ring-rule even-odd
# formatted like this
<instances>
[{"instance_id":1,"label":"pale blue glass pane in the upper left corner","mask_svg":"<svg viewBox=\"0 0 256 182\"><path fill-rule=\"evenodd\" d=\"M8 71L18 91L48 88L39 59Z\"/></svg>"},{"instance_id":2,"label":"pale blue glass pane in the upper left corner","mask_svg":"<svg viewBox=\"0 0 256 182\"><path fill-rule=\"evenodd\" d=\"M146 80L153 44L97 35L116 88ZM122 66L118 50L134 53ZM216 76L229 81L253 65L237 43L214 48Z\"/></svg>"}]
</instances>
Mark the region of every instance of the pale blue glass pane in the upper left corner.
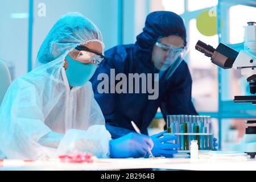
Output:
<instances>
[{"instance_id":1,"label":"pale blue glass pane in the upper left corner","mask_svg":"<svg viewBox=\"0 0 256 182\"><path fill-rule=\"evenodd\" d=\"M28 1L1 1L0 22L0 58L14 80L27 73Z\"/></svg>"}]
</instances>

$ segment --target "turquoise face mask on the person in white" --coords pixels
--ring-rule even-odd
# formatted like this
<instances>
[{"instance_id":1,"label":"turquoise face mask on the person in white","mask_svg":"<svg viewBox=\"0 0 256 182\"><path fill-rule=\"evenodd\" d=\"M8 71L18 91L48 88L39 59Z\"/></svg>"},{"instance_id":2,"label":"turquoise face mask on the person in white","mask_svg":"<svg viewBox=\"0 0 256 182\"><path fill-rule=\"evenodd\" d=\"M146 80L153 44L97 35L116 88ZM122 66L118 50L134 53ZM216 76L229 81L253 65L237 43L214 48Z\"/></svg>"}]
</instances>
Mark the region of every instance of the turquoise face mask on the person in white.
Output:
<instances>
[{"instance_id":1,"label":"turquoise face mask on the person in white","mask_svg":"<svg viewBox=\"0 0 256 182\"><path fill-rule=\"evenodd\" d=\"M67 55L66 59L68 60L66 75L70 86L83 86L96 71L97 65L95 64L81 63L72 59L69 55Z\"/></svg>"}]
</instances>

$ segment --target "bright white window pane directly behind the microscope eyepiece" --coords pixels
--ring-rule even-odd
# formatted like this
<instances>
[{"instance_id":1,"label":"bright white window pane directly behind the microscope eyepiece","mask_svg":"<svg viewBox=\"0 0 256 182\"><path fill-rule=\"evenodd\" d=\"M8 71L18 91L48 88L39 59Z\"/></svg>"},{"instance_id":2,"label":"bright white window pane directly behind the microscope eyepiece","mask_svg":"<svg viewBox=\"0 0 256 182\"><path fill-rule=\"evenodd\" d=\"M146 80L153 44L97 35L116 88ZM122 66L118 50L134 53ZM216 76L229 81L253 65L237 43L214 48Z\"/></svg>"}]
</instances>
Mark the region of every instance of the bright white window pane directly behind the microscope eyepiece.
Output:
<instances>
[{"instance_id":1,"label":"bright white window pane directly behind the microscope eyepiece","mask_svg":"<svg viewBox=\"0 0 256 182\"><path fill-rule=\"evenodd\" d=\"M196 19L189 21L189 69L191 71L193 85L192 97L195 98L195 106L198 111L217 111L218 108L218 78L217 67L209 58L195 50L198 40L218 46L218 36L204 36L196 27ZM199 89L200 88L200 89ZM208 103L205 106L205 103Z\"/></svg>"}]
</instances>

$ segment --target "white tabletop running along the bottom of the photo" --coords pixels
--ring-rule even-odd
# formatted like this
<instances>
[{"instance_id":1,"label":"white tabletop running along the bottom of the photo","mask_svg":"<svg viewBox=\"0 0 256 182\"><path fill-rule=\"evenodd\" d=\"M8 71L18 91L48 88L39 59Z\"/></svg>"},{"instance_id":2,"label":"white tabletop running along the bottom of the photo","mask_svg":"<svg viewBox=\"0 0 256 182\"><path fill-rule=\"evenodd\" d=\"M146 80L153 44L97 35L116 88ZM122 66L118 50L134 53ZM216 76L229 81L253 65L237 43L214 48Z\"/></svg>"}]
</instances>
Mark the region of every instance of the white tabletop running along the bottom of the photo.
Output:
<instances>
[{"instance_id":1,"label":"white tabletop running along the bottom of the photo","mask_svg":"<svg viewBox=\"0 0 256 182\"><path fill-rule=\"evenodd\" d=\"M59 161L23 162L5 160L0 170L118 170L118 169L178 169L178 170L256 170L255 159L191 161L185 158L171 159L97 159L94 163L62 163Z\"/></svg>"}]
</instances>

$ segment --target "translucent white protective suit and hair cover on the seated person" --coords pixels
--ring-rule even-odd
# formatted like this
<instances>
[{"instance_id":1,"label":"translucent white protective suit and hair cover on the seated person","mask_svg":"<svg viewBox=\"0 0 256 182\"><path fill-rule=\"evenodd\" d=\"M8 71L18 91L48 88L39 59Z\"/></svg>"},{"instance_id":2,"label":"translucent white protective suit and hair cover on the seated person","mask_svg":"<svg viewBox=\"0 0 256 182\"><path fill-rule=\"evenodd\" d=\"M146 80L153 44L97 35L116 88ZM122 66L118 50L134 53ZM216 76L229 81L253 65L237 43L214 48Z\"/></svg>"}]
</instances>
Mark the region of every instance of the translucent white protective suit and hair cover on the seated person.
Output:
<instances>
[{"instance_id":1,"label":"translucent white protective suit and hair cover on the seated person","mask_svg":"<svg viewBox=\"0 0 256 182\"><path fill-rule=\"evenodd\" d=\"M40 47L36 69L16 79L3 99L0 156L44 160L89 152L109 157L111 135L92 84L70 89L63 68L68 52L88 42L104 48L101 32L89 19L69 13L56 22Z\"/></svg>"}]
</instances>

